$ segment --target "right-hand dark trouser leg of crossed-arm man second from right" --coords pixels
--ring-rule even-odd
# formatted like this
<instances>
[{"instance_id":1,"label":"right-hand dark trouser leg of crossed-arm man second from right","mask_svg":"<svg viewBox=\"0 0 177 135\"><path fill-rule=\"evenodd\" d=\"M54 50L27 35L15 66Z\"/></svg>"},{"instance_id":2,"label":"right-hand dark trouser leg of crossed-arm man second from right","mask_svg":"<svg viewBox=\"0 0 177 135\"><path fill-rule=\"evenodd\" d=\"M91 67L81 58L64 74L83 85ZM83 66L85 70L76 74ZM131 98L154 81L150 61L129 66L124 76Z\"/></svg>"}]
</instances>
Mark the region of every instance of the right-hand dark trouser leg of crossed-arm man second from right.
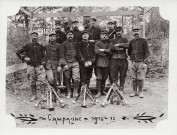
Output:
<instances>
[{"instance_id":1,"label":"right-hand dark trouser leg of crossed-arm man second from right","mask_svg":"<svg viewBox=\"0 0 177 135\"><path fill-rule=\"evenodd\" d=\"M125 84L127 69L128 69L127 59L121 60L121 65L120 65L120 91L122 91L122 92L124 90L124 84Z\"/></svg>"}]
</instances>

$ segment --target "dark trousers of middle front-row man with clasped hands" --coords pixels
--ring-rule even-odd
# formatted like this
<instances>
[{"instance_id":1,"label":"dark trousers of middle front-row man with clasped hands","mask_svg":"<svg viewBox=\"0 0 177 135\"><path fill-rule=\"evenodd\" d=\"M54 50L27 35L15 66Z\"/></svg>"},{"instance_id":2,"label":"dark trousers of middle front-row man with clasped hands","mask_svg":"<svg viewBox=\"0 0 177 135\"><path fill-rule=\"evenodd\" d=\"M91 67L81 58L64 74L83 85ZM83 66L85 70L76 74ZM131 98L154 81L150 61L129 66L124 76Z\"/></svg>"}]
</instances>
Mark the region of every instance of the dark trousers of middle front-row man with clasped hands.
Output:
<instances>
[{"instance_id":1,"label":"dark trousers of middle front-row man with clasped hands","mask_svg":"<svg viewBox=\"0 0 177 135\"><path fill-rule=\"evenodd\" d=\"M80 77L81 77L81 86L90 83L90 78L92 77L93 66L85 67L80 64Z\"/></svg>"}]
</instances>

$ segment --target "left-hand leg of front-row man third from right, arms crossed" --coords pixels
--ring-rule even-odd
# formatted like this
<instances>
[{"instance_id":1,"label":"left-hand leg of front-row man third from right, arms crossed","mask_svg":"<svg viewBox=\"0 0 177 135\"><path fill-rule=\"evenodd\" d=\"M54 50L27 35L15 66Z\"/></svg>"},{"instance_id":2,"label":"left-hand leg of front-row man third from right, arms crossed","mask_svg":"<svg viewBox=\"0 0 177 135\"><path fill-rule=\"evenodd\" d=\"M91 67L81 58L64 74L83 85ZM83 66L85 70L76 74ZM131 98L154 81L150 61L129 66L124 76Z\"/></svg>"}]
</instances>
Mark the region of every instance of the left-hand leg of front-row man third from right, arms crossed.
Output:
<instances>
[{"instance_id":1,"label":"left-hand leg of front-row man third from right, arms crossed","mask_svg":"<svg viewBox=\"0 0 177 135\"><path fill-rule=\"evenodd\" d=\"M96 98L99 98L101 96L101 83L102 83L102 78L103 78L103 72L102 72L102 67L96 67L96 88L97 88L97 94Z\"/></svg>"}]
</instances>

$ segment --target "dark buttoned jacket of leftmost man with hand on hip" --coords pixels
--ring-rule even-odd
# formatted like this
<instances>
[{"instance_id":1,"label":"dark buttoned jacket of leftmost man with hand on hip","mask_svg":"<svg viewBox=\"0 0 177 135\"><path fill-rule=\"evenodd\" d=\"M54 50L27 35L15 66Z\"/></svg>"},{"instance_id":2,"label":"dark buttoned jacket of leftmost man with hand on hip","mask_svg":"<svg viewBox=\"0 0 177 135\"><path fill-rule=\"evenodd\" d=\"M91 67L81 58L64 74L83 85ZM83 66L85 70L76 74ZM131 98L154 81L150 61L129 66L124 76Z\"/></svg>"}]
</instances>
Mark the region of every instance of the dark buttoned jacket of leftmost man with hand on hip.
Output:
<instances>
[{"instance_id":1,"label":"dark buttoned jacket of leftmost man with hand on hip","mask_svg":"<svg viewBox=\"0 0 177 135\"><path fill-rule=\"evenodd\" d=\"M26 52L26 56L23 57L22 53L24 52ZM45 61L45 49L39 43L26 44L22 49L17 51L16 55L22 60L25 57L30 58L27 64L34 67L41 65L42 61Z\"/></svg>"}]
</instances>

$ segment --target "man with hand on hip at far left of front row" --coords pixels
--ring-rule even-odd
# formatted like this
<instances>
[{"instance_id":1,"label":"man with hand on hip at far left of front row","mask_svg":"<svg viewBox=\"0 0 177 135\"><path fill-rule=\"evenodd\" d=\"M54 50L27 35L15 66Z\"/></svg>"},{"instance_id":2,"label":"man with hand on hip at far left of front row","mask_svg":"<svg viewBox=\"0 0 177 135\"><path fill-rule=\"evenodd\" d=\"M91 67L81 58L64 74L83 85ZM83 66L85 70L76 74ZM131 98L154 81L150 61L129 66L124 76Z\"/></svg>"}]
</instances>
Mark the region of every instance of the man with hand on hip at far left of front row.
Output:
<instances>
[{"instance_id":1,"label":"man with hand on hip at far left of front row","mask_svg":"<svg viewBox=\"0 0 177 135\"><path fill-rule=\"evenodd\" d=\"M43 45L37 42L37 39L38 33L32 32L32 42L23 46L23 48L16 53L20 59L27 62L27 74L32 90L31 102L37 99L36 82L40 82L40 88L44 90L44 94L47 84L45 69L42 65L45 63L45 50ZM26 53L26 55L23 55L23 53Z\"/></svg>"}]
</instances>

